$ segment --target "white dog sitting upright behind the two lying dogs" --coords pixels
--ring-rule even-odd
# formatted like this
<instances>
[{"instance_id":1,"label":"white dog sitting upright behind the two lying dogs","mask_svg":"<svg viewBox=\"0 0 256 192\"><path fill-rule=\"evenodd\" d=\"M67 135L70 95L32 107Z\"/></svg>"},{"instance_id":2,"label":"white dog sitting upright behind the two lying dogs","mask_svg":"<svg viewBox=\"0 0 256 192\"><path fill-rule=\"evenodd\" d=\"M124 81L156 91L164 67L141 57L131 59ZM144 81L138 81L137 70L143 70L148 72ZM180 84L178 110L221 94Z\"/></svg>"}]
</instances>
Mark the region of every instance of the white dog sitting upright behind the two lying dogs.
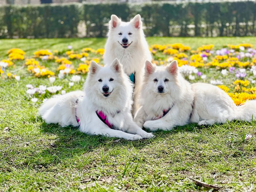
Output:
<instances>
[{"instance_id":1,"label":"white dog sitting upright behind the two lying dogs","mask_svg":"<svg viewBox=\"0 0 256 192\"><path fill-rule=\"evenodd\" d=\"M104 63L111 64L115 58L120 60L124 72L135 83L133 106L133 112L135 112L138 109L138 94L144 74L145 60L152 59L142 30L140 15L136 15L130 22L122 22L116 15L111 16Z\"/></svg>"}]
</instances>

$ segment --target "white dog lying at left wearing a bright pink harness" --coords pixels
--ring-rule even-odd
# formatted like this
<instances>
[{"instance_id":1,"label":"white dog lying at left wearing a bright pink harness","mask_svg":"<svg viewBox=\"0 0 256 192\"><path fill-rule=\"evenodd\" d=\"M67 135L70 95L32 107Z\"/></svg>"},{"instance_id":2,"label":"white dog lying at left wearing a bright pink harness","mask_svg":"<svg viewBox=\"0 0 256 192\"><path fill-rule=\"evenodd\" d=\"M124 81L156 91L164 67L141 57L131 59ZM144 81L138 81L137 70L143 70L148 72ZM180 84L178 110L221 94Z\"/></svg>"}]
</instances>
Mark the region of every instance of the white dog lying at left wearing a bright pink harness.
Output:
<instances>
[{"instance_id":1,"label":"white dog lying at left wearing a bright pink harness","mask_svg":"<svg viewBox=\"0 0 256 192\"><path fill-rule=\"evenodd\" d=\"M46 123L79 126L81 132L127 140L151 138L132 120L132 83L115 59L108 67L91 62L84 92L46 101L39 113ZM127 132L127 133L126 133Z\"/></svg>"}]
</instances>

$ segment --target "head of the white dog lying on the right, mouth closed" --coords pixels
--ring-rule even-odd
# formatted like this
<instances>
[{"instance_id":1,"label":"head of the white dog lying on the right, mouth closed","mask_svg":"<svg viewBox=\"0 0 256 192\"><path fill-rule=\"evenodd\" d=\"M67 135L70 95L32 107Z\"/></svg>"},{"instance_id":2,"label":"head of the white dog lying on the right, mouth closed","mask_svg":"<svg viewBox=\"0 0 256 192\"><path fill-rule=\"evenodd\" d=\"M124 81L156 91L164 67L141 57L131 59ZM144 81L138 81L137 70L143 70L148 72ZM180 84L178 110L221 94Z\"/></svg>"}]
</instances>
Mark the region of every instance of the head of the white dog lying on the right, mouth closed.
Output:
<instances>
[{"instance_id":1,"label":"head of the white dog lying on the right, mouth closed","mask_svg":"<svg viewBox=\"0 0 256 192\"><path fill-rule=\"evenodd\" d=\"M155 66L146 61L144 89L153 94L172 94L179 89L178 63L174 60L168 66Z\"/></svg>"}]
</instances>

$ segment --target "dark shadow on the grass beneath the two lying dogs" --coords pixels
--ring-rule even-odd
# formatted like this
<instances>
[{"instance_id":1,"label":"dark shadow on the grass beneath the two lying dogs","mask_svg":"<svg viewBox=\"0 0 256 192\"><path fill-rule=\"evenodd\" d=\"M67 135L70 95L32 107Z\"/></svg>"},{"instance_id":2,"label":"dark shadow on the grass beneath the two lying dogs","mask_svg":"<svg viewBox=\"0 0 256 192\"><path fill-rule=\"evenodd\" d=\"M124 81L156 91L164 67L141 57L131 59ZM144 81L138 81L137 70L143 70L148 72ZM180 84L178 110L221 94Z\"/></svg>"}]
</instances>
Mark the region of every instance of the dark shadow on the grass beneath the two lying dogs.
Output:
<instances>
[{"instance_id":1,"label":"dark shadow on the grass beneath the two lying dogs","mask_svg":"<svg viewBox=\"0 0 256 192\"><path fill-rule=\"evenodd\" d=\"M43 120L42 120L43 121ZM58 150L69 150L70 152L80 152L80 151L93 151L98 148L104 147L106 150L108 148L113 148L115 146L129 147L133 146L135 148L142 148L147 144L151 144L158 137L168 138L169 134L176 134L178 132L198 132L197 124L188 124L186 126L178 126L171 131L156 131L154 132L155 138L128 141L119 138L109 138L100 135L88 135L82 133L77 127L60 127L58 124L46 124L42 122L41 130L47 134L57 135L54 143L49 144L52 148ZM146 130L149 132L149 130Z\"/></svg>"}]
</instances>

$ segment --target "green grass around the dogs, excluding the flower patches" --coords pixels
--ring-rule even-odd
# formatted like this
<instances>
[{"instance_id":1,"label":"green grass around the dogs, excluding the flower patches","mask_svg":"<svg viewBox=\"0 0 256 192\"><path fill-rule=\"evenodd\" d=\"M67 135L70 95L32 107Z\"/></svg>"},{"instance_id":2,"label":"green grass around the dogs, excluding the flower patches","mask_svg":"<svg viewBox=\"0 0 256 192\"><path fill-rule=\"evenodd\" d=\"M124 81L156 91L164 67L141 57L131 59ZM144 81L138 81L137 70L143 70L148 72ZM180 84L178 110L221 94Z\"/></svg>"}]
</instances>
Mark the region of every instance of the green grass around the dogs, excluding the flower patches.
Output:
<instances>
[{"instance_id":1,"label":"green grass around the dogs, excluding the flower patches","mask_svg":"<svg viewBox=\"0 0 256 192\"><path fill-rule=\"evenodd\" d=\"M6 58L10 48L27 55L49 48L64 51L103 48L106 39L0 40ZM238 44L255 38L148 38L149 44ZM20 62L22 64L22 62ZM50 65L48 63L48 65ZM18 68L18 66L16 66ZM89 136L77 128L46 124L40 103L26 94L26 84L50 86L20 70L22 79L0 79L0 191L209 191L188 176L219 186L220 191L256 190L256 122L202 126L189 124L157 131L140 141ZM84 77L85 78L85 77ZM65 90L82 89L83 82ZM42 102L42 98L40 98ZM252 134L244 140L245 134Z\"/></svg>"}]
</instances>

